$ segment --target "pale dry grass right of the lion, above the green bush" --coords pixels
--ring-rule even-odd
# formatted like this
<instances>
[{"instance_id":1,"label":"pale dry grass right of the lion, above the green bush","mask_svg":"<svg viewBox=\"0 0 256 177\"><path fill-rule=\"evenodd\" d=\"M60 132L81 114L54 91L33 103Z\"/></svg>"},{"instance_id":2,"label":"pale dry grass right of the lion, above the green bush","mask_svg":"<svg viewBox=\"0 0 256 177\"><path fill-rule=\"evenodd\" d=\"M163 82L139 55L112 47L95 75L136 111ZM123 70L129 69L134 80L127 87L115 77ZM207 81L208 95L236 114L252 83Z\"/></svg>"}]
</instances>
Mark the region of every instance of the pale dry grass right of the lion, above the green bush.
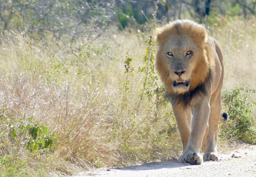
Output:
<instances>
[{"instance_id":1,"label":"pale dry grass right of the lion, above the green bush","mask_svg":"<svg viewBox=\"0 0 256 177\"><path fill-rule=\"evenodd\" d=\"M218 19L212 36L222 46L225 60L224 89L256 88L256 18Z\"/></svg>"}]
</instances>

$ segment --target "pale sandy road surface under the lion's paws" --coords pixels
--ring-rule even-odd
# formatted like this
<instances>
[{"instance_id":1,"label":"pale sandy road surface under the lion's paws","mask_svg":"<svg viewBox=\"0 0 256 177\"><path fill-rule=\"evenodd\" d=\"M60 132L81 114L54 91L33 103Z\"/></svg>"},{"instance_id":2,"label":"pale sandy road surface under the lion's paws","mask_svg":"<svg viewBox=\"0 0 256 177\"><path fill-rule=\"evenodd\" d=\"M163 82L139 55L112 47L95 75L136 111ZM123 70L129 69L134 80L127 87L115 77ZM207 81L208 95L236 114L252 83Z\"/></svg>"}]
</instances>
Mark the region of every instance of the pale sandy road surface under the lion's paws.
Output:
<instances>
[{"instance_id":1,"label":"pale sandy road surface under the lion's paws","mask_svg":"<svg viewBox=\"0 0 256 177\"><path fill-rule=\"evenodd\" d=\"M99 168L74 177L256 177L256 146L233 144L220 149L218 162L202 165L154 162L126 168Z\"/></svg>"}]
</instances>

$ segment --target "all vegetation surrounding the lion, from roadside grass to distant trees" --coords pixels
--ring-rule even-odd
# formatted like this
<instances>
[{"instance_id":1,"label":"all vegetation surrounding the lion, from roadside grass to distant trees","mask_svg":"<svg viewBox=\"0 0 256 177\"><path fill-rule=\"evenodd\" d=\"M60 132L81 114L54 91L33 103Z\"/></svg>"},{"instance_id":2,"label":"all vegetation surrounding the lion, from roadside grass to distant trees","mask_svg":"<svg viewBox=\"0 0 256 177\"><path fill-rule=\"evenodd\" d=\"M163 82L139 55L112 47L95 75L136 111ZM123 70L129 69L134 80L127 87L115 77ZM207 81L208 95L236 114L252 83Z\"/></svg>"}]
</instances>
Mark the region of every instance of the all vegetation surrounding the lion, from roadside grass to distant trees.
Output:
<instances>
[{"instance_id":1,"label":"all vegetation surrounding the lion, from roadside grass to distant trees","mask_svg":"<svg viewBox=\"0 0 256 177\"><path fill-rule=\"evenodd\" d=\"M0 176L177 159L155 28L202 23L222 46L219 148L256 144L256 0L0 0Z\"/></svg>"}]
</instances>

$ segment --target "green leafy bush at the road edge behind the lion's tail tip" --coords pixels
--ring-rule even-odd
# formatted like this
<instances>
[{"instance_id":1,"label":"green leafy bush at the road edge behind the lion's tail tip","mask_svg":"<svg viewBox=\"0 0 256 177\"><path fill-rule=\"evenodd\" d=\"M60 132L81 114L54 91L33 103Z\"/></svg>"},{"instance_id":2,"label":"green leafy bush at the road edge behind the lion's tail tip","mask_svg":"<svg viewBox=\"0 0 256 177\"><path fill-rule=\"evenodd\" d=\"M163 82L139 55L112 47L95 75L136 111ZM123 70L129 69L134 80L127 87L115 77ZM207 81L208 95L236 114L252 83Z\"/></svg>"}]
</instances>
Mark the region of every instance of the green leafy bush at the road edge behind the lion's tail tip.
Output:
<instances>
[{"instance_id":1,"label":"green leafy bush at the road edge behind the lion's tail tip","mask_svg":"<svg viewBox=\"0 0 256 177\"><path fill-rule=\"evenodd\" d=\"M235 138L256 144L255 102L249 102L256 89L236 87L222 94L222 102L229 113L229 122L223 123L222 131L227 138Z\"/></svg>"}]
</instances>

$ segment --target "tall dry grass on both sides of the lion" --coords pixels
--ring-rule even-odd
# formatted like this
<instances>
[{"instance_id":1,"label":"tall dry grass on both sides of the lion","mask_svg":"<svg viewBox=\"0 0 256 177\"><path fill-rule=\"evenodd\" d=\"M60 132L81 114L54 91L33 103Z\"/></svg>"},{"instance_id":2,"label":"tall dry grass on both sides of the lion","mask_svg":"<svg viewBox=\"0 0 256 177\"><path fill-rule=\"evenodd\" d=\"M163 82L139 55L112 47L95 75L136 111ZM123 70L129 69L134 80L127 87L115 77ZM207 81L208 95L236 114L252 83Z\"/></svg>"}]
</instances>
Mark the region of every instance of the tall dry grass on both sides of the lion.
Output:
<instances>
[{"instance_id":1,"label":"tall dry grass on both sides of the lion","mask_svg":"<svg viewBox=\"0 0 256 177\"><path fill-rule=\"evenodd\" d=\"M210 31L223 48L224 87L255 88L255 73L250 71L256 67L255 19L221 18L218 23L223 25ZM43 41L35 36L6 31L0 39L1 114L16 115L0 125L0 175L57 176L177 158L182 150L177 125L171 105L160 99L161 83L153 79L153 70L144 86L143 67L154 67L155 46L148 51L152 55L145 53L149 34L122 31L89 44L78 41L78 46L50 34ZM127 74L128 58L133 60ZM31 153L25 140L13 146L6 125L24 116L56 130L52 148Z\"/></svg>"}]
</instances>

